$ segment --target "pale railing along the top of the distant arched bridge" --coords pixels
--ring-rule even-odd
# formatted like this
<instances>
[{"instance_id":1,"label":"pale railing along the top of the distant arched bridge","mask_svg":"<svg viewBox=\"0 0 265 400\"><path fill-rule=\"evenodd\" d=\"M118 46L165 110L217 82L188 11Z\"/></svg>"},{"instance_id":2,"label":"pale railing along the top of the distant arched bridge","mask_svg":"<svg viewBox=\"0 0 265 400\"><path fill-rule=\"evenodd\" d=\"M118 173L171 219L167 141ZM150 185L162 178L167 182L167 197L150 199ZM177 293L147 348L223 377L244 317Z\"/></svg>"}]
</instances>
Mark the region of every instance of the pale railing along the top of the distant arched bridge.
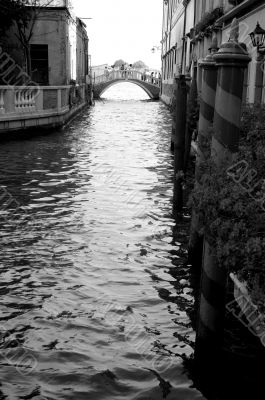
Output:
<instances>
[{"instance_id":1,"label":"pale railing along the top of the distant arched bridge","mask_svg":"<svg viewBox=\"0 0 265 400\"><path fill-rule=\"evenodd\" d=\"M113 70L113 71L106 71L103 75L99 75L94 78L94 84L98 85L100 83L106 83L106 82L111 82L114 80L138 80L138 81L143 81L147 82L151 85L154 86L160 86L161 80L151 76L147 75L144 72L141 72L136 69L131 69L131 70Z\"/></svg>"}]
</instances>

